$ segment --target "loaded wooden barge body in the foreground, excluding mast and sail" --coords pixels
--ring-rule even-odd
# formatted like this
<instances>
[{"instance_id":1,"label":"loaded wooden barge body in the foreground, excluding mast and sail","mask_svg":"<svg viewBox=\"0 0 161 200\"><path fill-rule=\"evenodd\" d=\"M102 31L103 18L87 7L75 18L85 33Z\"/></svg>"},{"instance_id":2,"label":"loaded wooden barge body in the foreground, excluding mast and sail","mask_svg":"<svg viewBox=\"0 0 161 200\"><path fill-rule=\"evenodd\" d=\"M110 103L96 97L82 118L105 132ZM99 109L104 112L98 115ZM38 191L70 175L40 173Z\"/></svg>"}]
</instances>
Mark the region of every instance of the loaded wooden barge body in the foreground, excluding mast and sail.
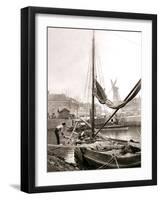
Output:
<instances>
[{"instance_id":1,"label":"loaded wooden barge body in the foreground, excluding mast and sail","mask_svg":"<svg viewBox=\"0 0 161 200\"><path fill-rule=\"evenodd\" d=\"M127 143L127 142L124 142ZM138 144L137 144L138 145ZM136 144L119 142L104 148L96 145L76 147L74 156L80 169L114 169L141 166L141 149Z\"/></svg>"}]
</instances>

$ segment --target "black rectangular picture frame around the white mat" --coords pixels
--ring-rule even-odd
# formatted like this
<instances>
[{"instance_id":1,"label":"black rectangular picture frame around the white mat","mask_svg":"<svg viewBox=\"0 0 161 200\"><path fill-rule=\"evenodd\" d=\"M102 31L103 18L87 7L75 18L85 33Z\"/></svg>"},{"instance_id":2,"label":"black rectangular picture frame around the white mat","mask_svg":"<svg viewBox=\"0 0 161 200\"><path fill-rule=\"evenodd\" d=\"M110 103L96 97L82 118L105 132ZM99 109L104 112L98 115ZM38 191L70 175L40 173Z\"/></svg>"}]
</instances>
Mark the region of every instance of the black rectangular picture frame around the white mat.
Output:
<instances>
[{"instance_id":1,"label":"black rectangular picture frame around the white mat","mask_svg":"<svg viewBox=\"0 0 161 200\"><path fill-rule=\"evenodd\" d=\"M152 179L35 186L35 16L59 14L152 21ZM89 190L157 184L157 15L45 7L21 9L21 190L27 193Z\"/></svg>"}]
</instances>

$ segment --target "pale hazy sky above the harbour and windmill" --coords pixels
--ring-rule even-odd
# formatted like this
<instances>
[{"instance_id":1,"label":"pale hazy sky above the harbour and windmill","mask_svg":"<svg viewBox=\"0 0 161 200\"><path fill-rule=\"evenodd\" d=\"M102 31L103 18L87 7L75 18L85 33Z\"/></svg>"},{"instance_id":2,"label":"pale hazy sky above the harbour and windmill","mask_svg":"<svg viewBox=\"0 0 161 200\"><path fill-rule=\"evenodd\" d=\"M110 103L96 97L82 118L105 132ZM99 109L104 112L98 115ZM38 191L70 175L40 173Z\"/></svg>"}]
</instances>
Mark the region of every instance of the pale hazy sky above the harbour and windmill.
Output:
<instances>
[{"instance_id":1,"label":"pale hazy sky above the harbour and windmill","mask_svg":"<svg viewBox=\"0 0 161 200\"><path fill-rule=\"evenodd\" d=\"M48 90L85 98L91 64L93 31L48 28ZM123 99L141 78L141 33L95 31L97 77L112 98L110 80L117 79ZM102 72L101 72L102 71ZM103 81L104 80L104 81Z\"/></svg>"}]
</instances>

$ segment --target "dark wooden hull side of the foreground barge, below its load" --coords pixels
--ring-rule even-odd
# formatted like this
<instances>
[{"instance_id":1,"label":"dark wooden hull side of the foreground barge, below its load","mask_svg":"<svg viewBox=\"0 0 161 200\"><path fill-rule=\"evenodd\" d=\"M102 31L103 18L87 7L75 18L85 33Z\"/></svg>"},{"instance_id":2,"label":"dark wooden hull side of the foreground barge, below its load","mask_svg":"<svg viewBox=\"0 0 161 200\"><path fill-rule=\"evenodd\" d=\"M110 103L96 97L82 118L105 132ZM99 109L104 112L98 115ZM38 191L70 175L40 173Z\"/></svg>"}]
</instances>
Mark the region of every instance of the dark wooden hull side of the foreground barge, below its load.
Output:
<instances>
[{"instance_id":1,"label":"dark wooden hull side of the foreground barge, below its load","mask_svg":"<svg viewBox=\"0 0 161 200\"><path fill-rule=\"evenodd\" d=\"M77 148L75 149L75 160L80 168L86 166L91 169L114 169L141 166L140 153L114 156L114 154L108 152Z\"/></svg>"}]
</instances>

